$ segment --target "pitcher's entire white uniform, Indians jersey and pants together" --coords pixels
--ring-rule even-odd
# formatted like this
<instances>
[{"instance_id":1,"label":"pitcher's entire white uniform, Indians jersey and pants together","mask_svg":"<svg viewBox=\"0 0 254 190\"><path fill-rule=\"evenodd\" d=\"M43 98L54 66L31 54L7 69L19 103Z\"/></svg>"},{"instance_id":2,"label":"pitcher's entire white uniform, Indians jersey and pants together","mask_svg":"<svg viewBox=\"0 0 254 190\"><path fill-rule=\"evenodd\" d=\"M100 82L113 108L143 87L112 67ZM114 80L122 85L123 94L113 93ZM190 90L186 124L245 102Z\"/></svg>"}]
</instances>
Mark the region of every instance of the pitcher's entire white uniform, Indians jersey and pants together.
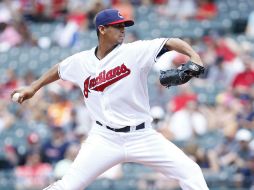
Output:
<instances>
[{"instance_id":1,"label":"pitcher's entire white uniform, Indians jersey and pants together","mask_svg":"<svg viewBox=\"0 0 254 190\"><path fill-rule=\"evenodd\" d=\"M124 162L152 167L179 180L184 190L208 190L200 167L151 128L147 75L166 41L121 44L101 60L92 48L59 64L59 76L79 85L94 120L113 128L146 125L142 132L92 127L67 173L45 190L85 189L100 174Z\"/></svg>"}]
</instances>

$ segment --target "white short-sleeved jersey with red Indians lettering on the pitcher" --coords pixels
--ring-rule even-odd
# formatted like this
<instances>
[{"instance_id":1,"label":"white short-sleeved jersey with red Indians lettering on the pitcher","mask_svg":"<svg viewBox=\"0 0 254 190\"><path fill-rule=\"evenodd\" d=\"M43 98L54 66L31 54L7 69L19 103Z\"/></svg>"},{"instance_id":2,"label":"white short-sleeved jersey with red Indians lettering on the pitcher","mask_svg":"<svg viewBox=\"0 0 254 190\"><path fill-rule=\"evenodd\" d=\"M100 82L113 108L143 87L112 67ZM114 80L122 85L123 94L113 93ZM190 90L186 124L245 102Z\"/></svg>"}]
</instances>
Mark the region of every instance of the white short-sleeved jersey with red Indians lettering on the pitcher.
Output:
<instances>
[{"instance_id":1,"label":"white short-sleeved jersey with red Indians lettering on the pitcher","mask_svg":"<svg viewBox=\"0 0 254 190\"><path fill-rule=\"evenodd\" d=\"M151 122L147 75L166 41L120 44L101 60L94 47L62 61L59 76L81 88L94 120L114 128Z\"/></svg>"}]
</instances>

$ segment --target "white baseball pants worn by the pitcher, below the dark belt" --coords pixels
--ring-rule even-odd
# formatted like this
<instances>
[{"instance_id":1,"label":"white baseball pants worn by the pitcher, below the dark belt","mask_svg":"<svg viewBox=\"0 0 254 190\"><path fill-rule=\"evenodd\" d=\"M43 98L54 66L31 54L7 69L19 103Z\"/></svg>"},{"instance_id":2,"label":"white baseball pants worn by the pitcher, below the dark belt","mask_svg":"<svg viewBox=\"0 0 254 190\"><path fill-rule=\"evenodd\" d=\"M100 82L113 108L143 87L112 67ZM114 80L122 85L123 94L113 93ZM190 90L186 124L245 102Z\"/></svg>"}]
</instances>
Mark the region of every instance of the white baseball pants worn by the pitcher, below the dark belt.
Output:
<instances>
[{"instance_id":1,"label":"white baseball pants worn by the pitcher, below the dark belt","mask_svg":"<svg viewBox=\"0 0 254 190\"><path fill-rule=\"evenodd\" d=\"M208 190L200 167L151 127L119 133L99 125L93 126L68 173L44 190L84 190L97 176L123 162L152 167L179 180L184 190Z\"/></svg>"}]
</instances>

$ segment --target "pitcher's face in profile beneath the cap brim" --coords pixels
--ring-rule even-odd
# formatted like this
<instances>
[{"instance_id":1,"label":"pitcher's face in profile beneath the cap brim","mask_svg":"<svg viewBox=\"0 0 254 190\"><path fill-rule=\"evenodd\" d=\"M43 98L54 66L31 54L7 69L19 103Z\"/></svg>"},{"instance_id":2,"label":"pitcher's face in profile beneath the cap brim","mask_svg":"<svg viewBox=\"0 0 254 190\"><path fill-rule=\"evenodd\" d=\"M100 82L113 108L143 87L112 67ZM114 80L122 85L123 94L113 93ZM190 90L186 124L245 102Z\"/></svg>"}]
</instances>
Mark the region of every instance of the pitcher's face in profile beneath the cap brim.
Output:
<instances>
[{"instance_id":1,"label":"pitcher's face in profile beneath the cap brim","mask_svg":"<svg viewBox=\"0 0 254 190\"><path fill-rule=\"evenodd\" d=\"M106 37L113 44L123 43L125 26L123 23L107 26Z\"/></svg>"}]
</instances>

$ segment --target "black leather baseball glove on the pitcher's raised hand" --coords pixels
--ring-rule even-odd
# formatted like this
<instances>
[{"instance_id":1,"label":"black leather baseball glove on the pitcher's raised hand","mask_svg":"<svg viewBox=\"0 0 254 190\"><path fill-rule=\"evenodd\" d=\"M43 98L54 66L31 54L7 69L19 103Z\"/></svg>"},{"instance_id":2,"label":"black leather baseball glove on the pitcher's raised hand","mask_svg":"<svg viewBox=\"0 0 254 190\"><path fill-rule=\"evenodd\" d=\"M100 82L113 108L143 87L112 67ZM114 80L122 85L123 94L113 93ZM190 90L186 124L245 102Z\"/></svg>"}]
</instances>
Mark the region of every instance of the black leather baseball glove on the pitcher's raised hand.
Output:
<instances>
[{"instance_id":1,"label":"black leather baseball glove on the pitcher's raised hand","mask_svg":"<svg viewBox=\"0 0 254 190\"><path fill-rule=\"evenodd\" d=\"M177 86L188 82L192 77L199 77L205 68L192 61L188 61L177 69L161 71L160 83L163 86Z\"/></svg>"}]
</instances>

